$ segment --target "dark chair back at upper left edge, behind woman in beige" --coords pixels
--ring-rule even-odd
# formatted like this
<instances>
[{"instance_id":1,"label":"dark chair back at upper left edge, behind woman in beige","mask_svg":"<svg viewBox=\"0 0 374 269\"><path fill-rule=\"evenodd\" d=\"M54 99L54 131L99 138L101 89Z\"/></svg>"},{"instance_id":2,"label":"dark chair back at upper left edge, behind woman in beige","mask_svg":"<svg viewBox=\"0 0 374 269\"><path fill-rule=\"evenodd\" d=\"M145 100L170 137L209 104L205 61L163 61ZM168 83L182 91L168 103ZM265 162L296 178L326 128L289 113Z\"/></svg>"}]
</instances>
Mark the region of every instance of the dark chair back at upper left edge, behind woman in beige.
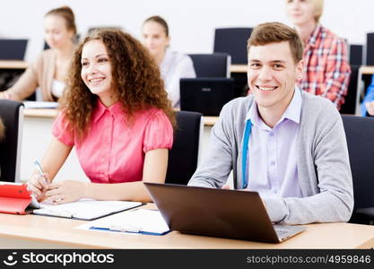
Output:
<instances>
[{"instance_id":1,"label":"dark chair back at upper left edge, behind woman in beige","mask_svg":"<svg viewBox=\"0 0 374 269\"><path fill-rule=\"evenodd\" d=\"M29 39L0 39L0 60L23 61Z\"/></svg>"}]
</instances>

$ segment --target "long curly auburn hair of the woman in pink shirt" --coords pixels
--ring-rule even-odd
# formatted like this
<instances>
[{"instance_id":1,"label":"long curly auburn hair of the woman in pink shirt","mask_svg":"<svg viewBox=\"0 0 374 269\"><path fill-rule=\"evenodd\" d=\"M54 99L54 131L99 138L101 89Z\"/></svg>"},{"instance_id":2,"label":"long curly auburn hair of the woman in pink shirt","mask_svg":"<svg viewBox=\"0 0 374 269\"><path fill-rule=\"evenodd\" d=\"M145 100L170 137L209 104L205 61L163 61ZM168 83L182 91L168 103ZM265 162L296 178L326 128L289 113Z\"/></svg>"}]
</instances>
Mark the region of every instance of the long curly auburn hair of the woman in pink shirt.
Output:
<instances>
[{"instance_id":1,"label":"long curly auburn hair of the woman in pink shirt","mask_svg":"<svg viewBox=\"0 0 374 269\"><path fill-rule=\"evenodd\" d=\"M107 48L112 66L112 87L129 123L139 110L160 108L169 117L171 125L176 126L158 65L137 39L121 30L93 31L76 48L62 99L69 126L83 136L97 103L97 95L91 93L81 77L83 47L91 40L100 40Z\"/></svg>"}]
</instances>

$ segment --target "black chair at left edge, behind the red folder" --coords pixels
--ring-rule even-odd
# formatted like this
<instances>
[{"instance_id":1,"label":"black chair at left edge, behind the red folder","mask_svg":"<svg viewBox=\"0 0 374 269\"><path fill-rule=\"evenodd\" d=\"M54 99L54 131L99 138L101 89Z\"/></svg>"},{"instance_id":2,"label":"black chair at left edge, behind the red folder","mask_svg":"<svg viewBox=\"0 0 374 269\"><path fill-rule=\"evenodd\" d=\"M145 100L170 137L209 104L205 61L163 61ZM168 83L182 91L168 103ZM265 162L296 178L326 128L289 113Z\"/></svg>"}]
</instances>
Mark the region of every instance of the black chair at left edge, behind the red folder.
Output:
<instances>
[{"instance_id":1,"label":"black chair at left edge, behind the red folder","mask_svg":"<svg viewBox=\"0 0 374 269\"><path fill-rule=\"evenodd\" d=\"M19 181L23 104L12 100L0 100L0 117L5 126L5 137L0 143L0 180Z\"/></svg>"}]
</instances>

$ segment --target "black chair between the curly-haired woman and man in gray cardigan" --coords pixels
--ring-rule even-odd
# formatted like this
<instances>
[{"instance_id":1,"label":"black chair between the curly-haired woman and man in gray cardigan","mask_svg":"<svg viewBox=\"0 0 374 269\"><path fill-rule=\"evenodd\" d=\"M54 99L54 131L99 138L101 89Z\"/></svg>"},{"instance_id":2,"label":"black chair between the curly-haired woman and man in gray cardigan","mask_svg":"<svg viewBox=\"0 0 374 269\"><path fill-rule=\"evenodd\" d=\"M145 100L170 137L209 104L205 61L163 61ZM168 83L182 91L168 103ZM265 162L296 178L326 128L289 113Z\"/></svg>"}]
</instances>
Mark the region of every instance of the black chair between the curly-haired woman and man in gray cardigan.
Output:
<instances>
[{"instance_id":1,"label":"black chair between the curly-haired woman and man in gray cardigan","mask_svg":"<svg viewBox=\"0 0 374 269\"><path fill-rule=\"evenodd\" d=\"M176 116L178 127L169 152L165 183L187 185L197 168L203 118L200 113L188 111L178 111Z\"/></svg>"}]
</instances>

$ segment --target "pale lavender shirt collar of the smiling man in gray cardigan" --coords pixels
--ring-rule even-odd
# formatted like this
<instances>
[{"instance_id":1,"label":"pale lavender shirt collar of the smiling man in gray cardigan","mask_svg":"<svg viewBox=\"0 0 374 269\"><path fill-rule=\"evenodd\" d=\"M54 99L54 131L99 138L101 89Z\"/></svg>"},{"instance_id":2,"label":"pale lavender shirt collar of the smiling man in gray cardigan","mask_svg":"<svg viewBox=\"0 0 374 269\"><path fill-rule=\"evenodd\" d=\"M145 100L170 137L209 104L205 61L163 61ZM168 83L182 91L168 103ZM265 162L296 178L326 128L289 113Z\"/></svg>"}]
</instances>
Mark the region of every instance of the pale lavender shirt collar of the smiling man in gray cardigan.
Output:
<instances>
[{"instance_id":1,"label":"pale lavender shirt collar of the smiling man in gray cardigan","mask_svg":"<svg viewBox=\"0 0 374 269\"><path fill-rule=\"evenodd\" d=\"M286 108L286 110L283 113L283 116L278 121L278 123L282 122L283 119L287 118L291 121L300 124L300 115L301 115L301 91L298 87L295 87L295 91L293 93L292 100L289 104L289 106ZM261 119L261 117L258 115L258 109L257 109L257 102L256 100L253 101L252 106L249 108L246 122L250 119L251 123L254 126L265 126L265 123ZM278 124L277 123L277 124Z\"/></svg>"}]
</instances>

